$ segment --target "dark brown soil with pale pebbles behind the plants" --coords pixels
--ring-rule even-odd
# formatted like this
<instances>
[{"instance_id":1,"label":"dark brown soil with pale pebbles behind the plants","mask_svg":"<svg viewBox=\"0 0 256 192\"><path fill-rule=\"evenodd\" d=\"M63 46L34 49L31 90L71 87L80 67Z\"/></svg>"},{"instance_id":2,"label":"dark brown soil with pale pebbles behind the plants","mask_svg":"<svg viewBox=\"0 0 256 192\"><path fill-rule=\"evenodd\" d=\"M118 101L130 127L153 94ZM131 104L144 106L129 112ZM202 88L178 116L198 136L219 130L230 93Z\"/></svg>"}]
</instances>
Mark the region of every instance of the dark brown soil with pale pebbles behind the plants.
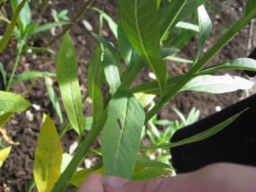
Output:
<instances>
[{"instance_id":1,"label":"dark brown soil with pale pebbles behind the plants","mask_svg":"<svg viewBox=\"0 0 256 192\"><path fill-rule=\"evenodd\" d=\"M68 9L68 16L73 18L81 8L81 4L84 3L82 0L59 0L51 2L51 6L49 6L47 12L44 14L45 22L50 20L52 21L50 14L51 8L56 8L58 11ZM214 29L212 30L209 42L207 42L207 48L211 47L212 42L215 42L216 39L220 37L221 33L223 33L224 27L226 28L227 26L230 26L239 17L241 17L243 11L241 11L239 8L243 8L243 5L243 1L239 0L232 0L228 2L225 1L224 3L214 1L213 10L211 10L211 19L214 23ZM118 10L116 1L97 0L95 3L93 3L93 6L96 6L97 8L102 8L104 6L106 13L117 20ZM216 8L214 9L214 7L218 7L218 10ZM33 8L38 9L36 6L33 6ZM33 12L35 16L36 13L37 10ZM220 15L220 17L216 17L216 14ZM88 20L88 22L90 22L90 24L93 26L93 31L97 32L99 23L99 15L97 13L92 10L88 10L83 16L83 19ZM108 28L105 28L105 30L109 34L109 36L106 36L106 38L113 40L113 38L111 38L111 32L108 30ZM3 34L4 30L1 29L0 32ZM97 41L92 37L92 35L90 35L88 31L86 31L82 22L79 22L76 26L74 26L70 33L76 47L77 60L84 63L79 65L79 77L81 81L82 94L85 95L87 83L87 64L90 60L90 57L92 56L94 48L97 45ZM49 33L47 33L44 38L38 40L37 44L44 45L45 43L49 42L51 39L49 36ZM244 29L241 33L239 33L239 35L236 36L236 38L234 38L234 40L232 40L232 42L230 42L230 44L225 47L225 49L223 49L223 51L220 52L220 54L218 54L218 56L212 60L211 63L221 63L223 61L231 60L234 58L245 57L246 52L248 51L247 42L248 29ZM4 64L9 74L13 66L13 58L15 56L15 52L13 50L15 50L15 44L16 42L13 39L5 51L1 54L1 62ZM187 45L184 47L184 49L182 49L182 51L180 51L179 56L192 59L195 54L197 44L198 36L195 36L191 44ZM52 49L54 49L54 51L58 51L58 47L60 47L60 41L53 45ZM33 58L30 54L26 54L22 56L20 60L17 74L30 70L55 72L56 63L54 60L55 59L47 53L38 55L36 58ZM187 65L180 65L180 63L170 63L168 66L170 74L179 74L182 72L182 70L187 70L188 68ZM148 70L145 71L148 72ZM149 80L146 72L141 75L141 78L138 81ZM244 76L243 72L232 72L232 74ZM28 85L29 83L17 84L12 88L12 92L22 93L24 90L26 90ZM54 85L56 85L56 79L54 79ZM60 95L59 92L58 95ZM242 95L243 92L234 92L222 95L192 92L180 93L179 96L170 102L170 105L167 105L159 113L159 116L160 118L168 119L176 118L176 116L173 114L173 111L170 109L170 106L175 106L175 108L179 109L184 114L188 114L192 107L196 107L200 109L201 118L203 118L214 113L216 106L225 108L226 106L237 102L237 100L239 100ZM38 79L33 90L29 93L28 100L33 104L40 106L41 109L39 111L36 111L34 108L30 109L34 116L34 120L32 122L29 122L25 113L20 113L16 114L14 118L12 118L12 120L6 124L8 135L14 141L19 141L20 145L13 147L10 156L1 167L0 191L26 191L29 181L33 177L33 160L36 148L36 140L42 122L42 113L49 113L56 122L56 126L58 127L60 125L58 118L54 113L54 109L52 108L51 101L47 97L44 79ZM90 104L86 104L84 109L88 111L86 112L87 115L90 114ZM61 140L63 143L63 149L67 151L70 144L73 143L76 139L77 137L74 132L68 132L68 134L66 134Z\"/></svg>"}]
</instances>

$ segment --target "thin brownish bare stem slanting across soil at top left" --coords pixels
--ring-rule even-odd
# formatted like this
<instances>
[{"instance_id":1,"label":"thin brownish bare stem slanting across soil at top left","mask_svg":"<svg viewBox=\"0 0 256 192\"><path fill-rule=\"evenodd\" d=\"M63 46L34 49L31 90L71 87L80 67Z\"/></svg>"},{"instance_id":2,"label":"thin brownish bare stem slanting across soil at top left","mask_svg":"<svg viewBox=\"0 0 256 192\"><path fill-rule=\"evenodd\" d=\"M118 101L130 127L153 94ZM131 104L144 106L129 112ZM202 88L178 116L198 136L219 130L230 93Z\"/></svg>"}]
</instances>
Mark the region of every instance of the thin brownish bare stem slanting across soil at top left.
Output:
<instances>
[{"instance_id":1,"label":"thin brownish bare stem slanting across soil at top left","mask_svg":"<svg viewBox=\"0 0 256 192\"><path fill-rule=\"evenodd\" d=\"M54 37L53 40L51 40L51 42L49 42L48 44L46 44L45 46L48 47L52 44L54 44L56 42L56 40L58 40L59 38L61 38L61 36L65 35L65 33L67 33L67 31L69 29L72 28L72 26L74 26L75 24L77 24L77 22L81 19L81 17L83 16L84 12L86 12L86 10L88 10L89 6L93 3L94 0L88 0L86 1L86 3L84 3L83 8L80 10L79 13L77 13L76 17L71 21L72 24L68 25L65 29L63 29L63 31L61 31L61 33L57 36Z\"/></svg>"}]
</instances>

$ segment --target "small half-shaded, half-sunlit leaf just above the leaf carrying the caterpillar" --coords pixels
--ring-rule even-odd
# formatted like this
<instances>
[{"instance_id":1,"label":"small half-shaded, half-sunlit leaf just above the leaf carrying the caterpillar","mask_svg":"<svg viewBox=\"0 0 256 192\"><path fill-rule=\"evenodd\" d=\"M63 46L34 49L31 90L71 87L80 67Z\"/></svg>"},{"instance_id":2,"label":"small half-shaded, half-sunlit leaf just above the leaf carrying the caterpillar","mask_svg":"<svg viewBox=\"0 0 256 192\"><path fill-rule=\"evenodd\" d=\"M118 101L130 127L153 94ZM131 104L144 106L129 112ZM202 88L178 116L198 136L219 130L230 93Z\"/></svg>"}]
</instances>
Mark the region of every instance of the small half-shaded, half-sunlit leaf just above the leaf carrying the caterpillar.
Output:
<instances>
[{"instance_id":1,"label":"small half-shaded, half-sunlit leaf just above the leaf carrying the caterpillar","mask_svg":"<svg viewBox=\"0 0 256 192\"><path fill-rule=\"evenodd\" d=\"M106 81L108 82L111 94L113 95L120 86L121 79L118 72L118 67L115 65L111 52L108 49L105 49L104 51L103 67Z\"/></svg>"}]
</instances>

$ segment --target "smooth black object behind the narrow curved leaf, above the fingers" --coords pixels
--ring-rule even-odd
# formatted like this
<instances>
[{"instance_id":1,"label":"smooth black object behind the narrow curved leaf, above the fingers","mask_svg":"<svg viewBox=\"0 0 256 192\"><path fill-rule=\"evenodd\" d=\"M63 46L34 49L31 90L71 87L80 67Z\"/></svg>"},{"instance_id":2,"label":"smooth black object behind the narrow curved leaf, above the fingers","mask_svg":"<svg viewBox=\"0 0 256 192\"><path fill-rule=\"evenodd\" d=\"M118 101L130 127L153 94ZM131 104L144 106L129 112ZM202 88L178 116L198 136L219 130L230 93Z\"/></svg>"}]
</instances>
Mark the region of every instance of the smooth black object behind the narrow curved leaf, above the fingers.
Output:
<instances>
[{"instance_id":1,"label":"smooth black object behind the narrow curved leaf, above the fingers","mask_svg":"<svg viewBox=\"0 0 256 192\"><path fill-rule=\"evenodd\" d=\"M250 109L214 136L172 148L172 162L177 172L191 172L218 162L256 166L256 94L180 129L174 134L172 142L210 129L246 108Z\"/></svg>"}]
</instances>

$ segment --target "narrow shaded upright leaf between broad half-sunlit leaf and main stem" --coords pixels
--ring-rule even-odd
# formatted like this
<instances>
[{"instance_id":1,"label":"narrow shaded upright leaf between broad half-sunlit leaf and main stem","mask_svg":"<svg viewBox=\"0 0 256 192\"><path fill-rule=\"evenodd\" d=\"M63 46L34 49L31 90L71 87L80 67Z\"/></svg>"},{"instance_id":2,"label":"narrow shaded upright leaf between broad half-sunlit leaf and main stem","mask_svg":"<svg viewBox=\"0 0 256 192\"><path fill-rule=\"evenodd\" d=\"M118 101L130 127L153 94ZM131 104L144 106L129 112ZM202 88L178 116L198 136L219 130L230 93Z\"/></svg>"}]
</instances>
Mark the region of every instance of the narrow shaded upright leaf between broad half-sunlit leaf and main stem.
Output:
<instances>
[{"instance_id":1,"label":"narrow shaded upright leaf between broad half-sunlit leaf and main stem","mask_svg":"<svg viewBox=\"0 0 256 192\"><path fill-rule=\"evenodd\" d=\"M98 46L92 56L88 69L88 90L92 98L93 124L99 120L103 112L103 101L101 92L101 52Z\"/></svg>"}]
</instances>

